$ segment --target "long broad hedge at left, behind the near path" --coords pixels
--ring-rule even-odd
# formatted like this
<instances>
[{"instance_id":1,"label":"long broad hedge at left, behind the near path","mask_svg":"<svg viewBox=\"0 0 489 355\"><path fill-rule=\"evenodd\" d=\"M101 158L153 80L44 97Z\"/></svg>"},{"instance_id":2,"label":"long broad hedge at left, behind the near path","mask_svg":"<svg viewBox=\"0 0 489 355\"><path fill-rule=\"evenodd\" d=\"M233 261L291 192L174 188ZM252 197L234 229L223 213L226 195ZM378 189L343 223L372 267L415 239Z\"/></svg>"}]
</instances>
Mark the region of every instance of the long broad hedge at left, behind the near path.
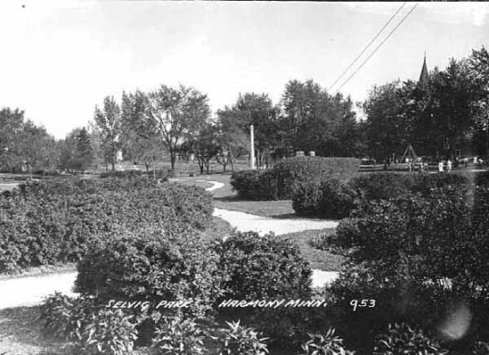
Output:
<instances>
[{"instance_id":1,"label":"long broad hedge at left, behind the near path","mask_svg":"<svg viewBox=\"0 0 489 355\"><path fill-rule=\"evenodd\" d=\"M169 234L204 230L211 196L199 187L145 178L54 179L0 197L0 273L78 261L99 233L158 225Z\"/></svg>"}]
</instances>

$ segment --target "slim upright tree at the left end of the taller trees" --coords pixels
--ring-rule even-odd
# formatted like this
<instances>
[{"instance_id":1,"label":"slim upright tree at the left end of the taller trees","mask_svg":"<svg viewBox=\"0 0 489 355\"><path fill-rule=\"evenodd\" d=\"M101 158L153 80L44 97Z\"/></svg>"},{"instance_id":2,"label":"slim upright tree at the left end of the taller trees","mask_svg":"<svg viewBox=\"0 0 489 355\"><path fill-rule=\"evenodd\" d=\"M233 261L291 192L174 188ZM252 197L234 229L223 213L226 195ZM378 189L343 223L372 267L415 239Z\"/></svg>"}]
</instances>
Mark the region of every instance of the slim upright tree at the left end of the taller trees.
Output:
<instances>
[{"instance_id":1,"label":"slim upright tree at the left end of the taller trees","mask_svg":"<svg viewBox=\"0 0 489 355\"><path fill-rule=\"evenodd\" d=\"M108 96L103 100L102 110L95 107L94 120L101 133L101 143L106 167L110 161L112 171L114 171L117 153L120 149L118 139L120 135L121 115L119 104L113 97Z\"/></svg>"}]
</instances>

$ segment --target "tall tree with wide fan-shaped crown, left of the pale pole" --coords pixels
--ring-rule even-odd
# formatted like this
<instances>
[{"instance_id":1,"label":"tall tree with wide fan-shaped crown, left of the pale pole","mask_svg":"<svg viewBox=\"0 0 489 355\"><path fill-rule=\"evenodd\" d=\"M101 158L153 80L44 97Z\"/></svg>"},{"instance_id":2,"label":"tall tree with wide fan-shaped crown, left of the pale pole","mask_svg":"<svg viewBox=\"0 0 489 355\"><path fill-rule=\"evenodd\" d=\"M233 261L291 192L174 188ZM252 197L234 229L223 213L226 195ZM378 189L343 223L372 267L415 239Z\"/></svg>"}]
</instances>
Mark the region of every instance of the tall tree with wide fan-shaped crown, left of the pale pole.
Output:
<instances>
[{"instance_id":1,"label":"tall tree with wide fan-shaped crown, left of the pale pole","mask_svg":"<svg viewBox=\"0 0 489 355\"><path fill-rule=\"evenodd\" d=\"M178 89L161 85L149 92L148 101L148 118L168 149L173 170L180 145L195 135L209 116L207 96L183 85Z\"/></svg>"}]
</instances>

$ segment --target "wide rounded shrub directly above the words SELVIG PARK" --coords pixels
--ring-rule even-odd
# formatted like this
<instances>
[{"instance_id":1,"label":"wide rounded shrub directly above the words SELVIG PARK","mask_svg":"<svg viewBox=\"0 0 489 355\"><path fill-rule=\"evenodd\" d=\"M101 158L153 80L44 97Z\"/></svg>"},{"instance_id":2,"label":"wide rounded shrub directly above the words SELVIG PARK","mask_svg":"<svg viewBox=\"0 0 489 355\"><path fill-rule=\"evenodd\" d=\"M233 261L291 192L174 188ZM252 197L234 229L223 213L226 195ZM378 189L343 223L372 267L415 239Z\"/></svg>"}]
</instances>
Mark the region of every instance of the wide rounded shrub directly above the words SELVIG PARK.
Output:
<instances>
[{"instance_id":1,"label":"wide rounded shrub directly above the words SELVIG PARK","mask_svg":"<svg viewBox=\"0 0 489 355\"><path fill-rule=\"evenodd\" d=\"M188 301L182 312L204 316L222 294L216 254L192 230L158 227L105 235L78 264L77 292L110 299ZM160 311L176 309L161 308Z\"/></svg>"}]
</instances>

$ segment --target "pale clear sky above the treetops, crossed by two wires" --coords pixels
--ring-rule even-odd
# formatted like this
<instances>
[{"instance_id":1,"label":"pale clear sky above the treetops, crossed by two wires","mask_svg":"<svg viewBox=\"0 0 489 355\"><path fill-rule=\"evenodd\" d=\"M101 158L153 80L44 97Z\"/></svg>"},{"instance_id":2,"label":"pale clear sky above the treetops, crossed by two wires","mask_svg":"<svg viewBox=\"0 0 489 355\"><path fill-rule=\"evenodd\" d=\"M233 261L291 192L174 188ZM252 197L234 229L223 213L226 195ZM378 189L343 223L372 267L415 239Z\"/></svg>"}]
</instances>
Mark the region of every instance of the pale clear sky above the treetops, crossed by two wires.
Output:
<instances>
[{"instance_id":1,"label":"pale clear sky above the treetops, crossed by two wires","mask_svg":"<svg viewBox=\"0 0 489 355\"><path fill-rule=\"evenodd\" d=\"M279 103L286 82L312 79L355 102L373 85L417 80L486 48L489 3L2 0L0 108L19 108L57 139L93 120L103 98L160 84L206 93L213 111L245 92Z\"/></svg>"}]
</instances>

